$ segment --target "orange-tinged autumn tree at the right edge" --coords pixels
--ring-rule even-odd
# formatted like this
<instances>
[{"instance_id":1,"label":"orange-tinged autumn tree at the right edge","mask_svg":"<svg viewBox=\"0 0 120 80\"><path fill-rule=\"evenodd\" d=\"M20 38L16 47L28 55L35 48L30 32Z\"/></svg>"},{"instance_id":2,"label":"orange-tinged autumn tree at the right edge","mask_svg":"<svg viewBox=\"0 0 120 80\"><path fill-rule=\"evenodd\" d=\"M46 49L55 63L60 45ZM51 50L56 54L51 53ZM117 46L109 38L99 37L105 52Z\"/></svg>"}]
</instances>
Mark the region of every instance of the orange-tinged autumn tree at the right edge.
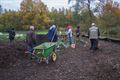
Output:
<instances>
[{"instance_id":1,"label":"orange-tinged autumn tree at the right edge","mask_svg":"<svg viewBox=\"0 0 120 80\"><path fill-rule=\"evenodd\" d=\"M113 33L118 33L118 30L115 30L120 26L120 8L119 3L114 4L112 0L108 0L102 8L102 14L98 17L98 23L102 26L107 37L110 37ZM114 32L113 30L114 29Z\"/></svg>"}]
</instances>

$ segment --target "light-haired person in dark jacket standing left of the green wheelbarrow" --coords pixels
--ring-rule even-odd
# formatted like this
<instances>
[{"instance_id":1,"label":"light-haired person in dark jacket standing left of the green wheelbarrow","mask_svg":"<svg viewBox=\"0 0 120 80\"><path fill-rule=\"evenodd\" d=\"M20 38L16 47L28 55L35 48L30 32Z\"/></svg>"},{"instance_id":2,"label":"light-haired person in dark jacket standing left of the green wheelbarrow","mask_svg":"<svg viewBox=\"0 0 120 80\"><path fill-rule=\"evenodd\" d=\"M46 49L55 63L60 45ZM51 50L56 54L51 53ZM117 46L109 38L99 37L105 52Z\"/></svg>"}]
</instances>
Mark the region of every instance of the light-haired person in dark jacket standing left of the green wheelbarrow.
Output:
<instances>
[{"instance_id":1,"label":"light-haired person in dark jacket standing left of the green wheelbarrow","mask_svg":"<svg viewBox=\"0 0 120 80\"><path fill-rule=\"evenodd\" d=\"M26 43L28 51L33 53L33 48L36 46L36 34L34 32L34 26L30 26L30 30L27 32Z\"/></svg>"}]
</instances>

